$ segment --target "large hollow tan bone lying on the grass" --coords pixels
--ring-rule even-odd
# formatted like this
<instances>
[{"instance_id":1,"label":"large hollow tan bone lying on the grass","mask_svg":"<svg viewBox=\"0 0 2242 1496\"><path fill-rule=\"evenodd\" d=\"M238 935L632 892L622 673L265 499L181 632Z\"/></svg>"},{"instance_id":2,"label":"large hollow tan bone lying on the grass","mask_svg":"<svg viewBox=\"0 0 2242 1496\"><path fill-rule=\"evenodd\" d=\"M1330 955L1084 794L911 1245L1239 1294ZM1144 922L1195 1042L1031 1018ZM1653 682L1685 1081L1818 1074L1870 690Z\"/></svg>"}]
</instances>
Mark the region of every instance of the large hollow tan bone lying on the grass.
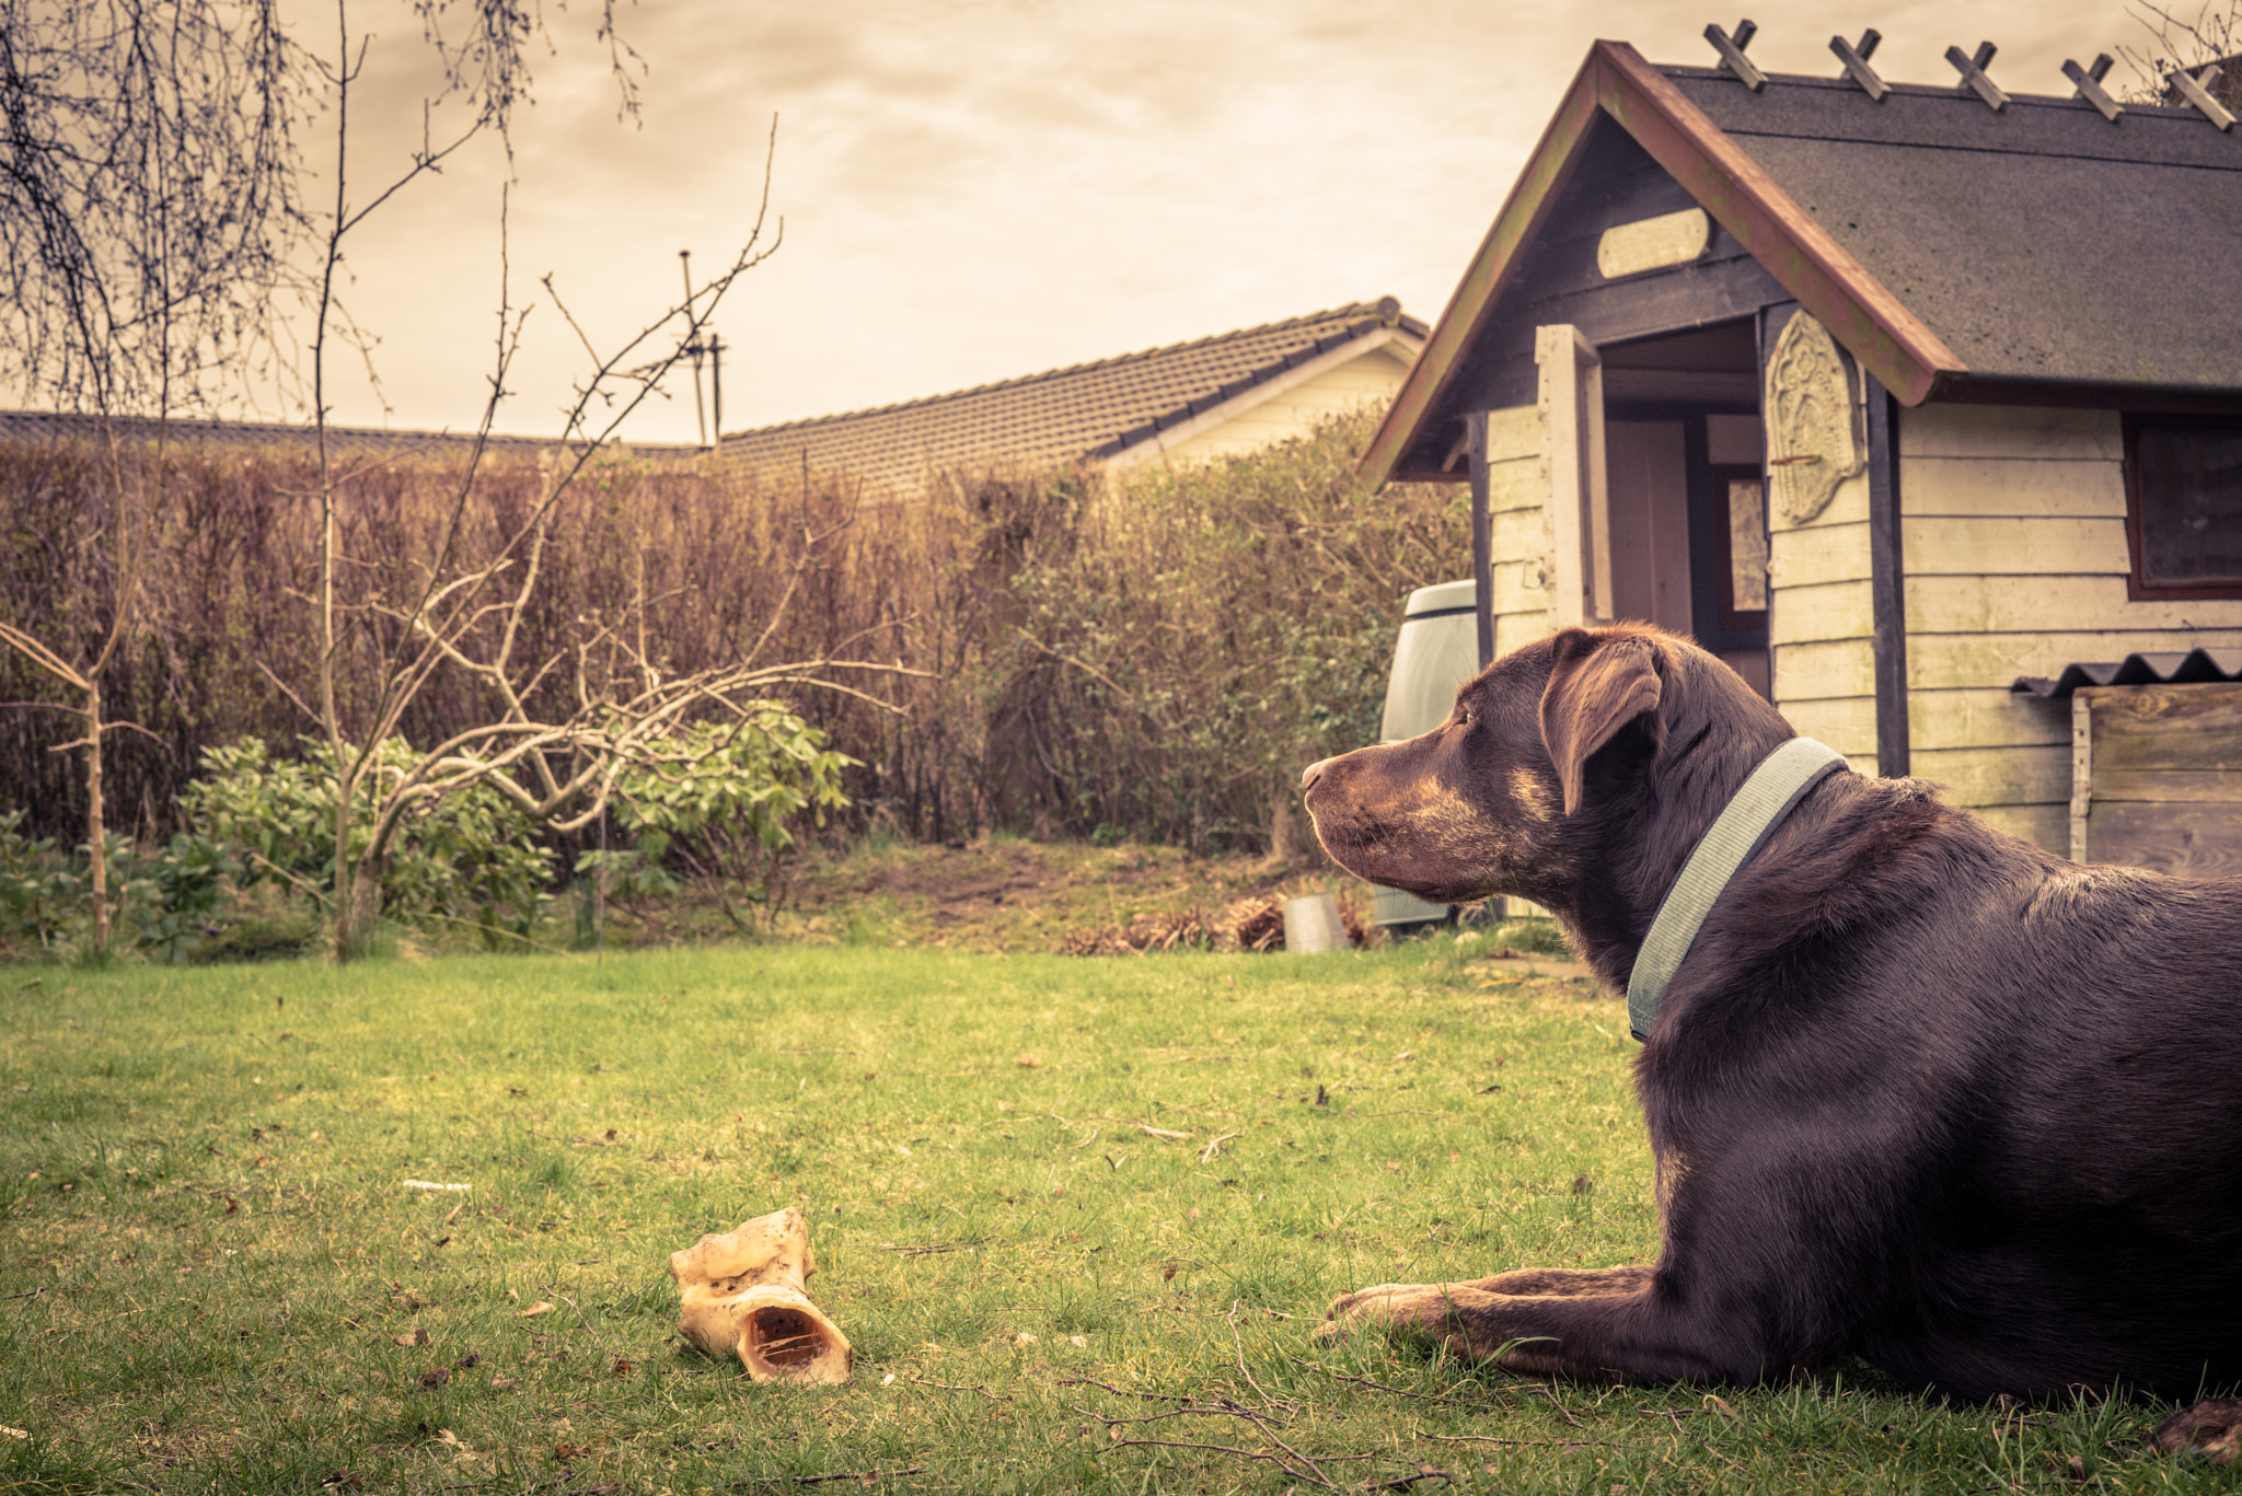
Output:
<instances>
[{"instance_id":1,"label":"large hollow tan bone lying on the grass","mask_svg":"<svg viewBox=\"0 0 2242 1496\"><path fill-rule=\"evenodd\" d=\"M791 1204L670 1254L684 1305L677 1332L708 1355L738 1352L756 1382L847 1382L854 1355L803 1283L818 1269Z\"/></svg>"}]
</instances>

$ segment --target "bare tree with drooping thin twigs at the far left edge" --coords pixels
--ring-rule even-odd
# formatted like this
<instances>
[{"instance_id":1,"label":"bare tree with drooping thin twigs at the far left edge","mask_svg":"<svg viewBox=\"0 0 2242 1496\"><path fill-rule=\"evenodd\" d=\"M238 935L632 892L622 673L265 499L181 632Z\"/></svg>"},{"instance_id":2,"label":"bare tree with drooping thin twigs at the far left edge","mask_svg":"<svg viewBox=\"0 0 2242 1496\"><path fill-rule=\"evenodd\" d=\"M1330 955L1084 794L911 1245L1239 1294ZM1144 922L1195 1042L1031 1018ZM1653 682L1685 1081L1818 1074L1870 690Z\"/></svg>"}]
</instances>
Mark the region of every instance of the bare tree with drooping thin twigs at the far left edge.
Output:
<instances>
[{"instance_id":1,"label":"bare tree with drooping thin twigs at the far left edge","mask_svg":"<svg viewBox=\"0 0 2242 1496\"><path fill-rule=\"evenodd\" d=\"M271 330L307 229L291 119L303 74L276 0L0 0L0 361L29 401L94 419L105 493L83 550L105 621L0 619L52 675L85 749L92 940L110 944L103 677L137 628L146 516L179 408L211 401ZM155 422L152 444L141 428ZM152 451L150 451L152 446ZM25 704L20 704L25 707Z\"/></svg>"}]
</instances>

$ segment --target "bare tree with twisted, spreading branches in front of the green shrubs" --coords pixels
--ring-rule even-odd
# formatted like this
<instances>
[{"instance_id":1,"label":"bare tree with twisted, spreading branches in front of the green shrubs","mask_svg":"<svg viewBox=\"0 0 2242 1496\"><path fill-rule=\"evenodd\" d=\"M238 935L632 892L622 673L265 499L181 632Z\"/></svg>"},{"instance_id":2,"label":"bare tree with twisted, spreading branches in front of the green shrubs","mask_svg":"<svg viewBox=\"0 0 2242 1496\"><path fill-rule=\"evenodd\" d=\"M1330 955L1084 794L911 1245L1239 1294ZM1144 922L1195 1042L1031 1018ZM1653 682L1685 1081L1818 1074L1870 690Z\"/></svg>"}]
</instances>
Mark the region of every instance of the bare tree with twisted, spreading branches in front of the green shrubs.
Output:
<instances>
[{"instance_id":1,"label":"bare tree with twisted, spreading branches in front of the green shrubs","mask_svg":"<svg viewBox=\"0 0 2242 1496\"><path fill-rule=\"evenodd\" d=\"M776 635L778 619L738 662L670 677L659 650L643 637L646 592L623 608L621 617L585 619L578 639L560 655L525 659L520 655L522 621L538 599L538 583L549 561L554 516L599 460L601 446L621 424L659 393L661 381L704 341L733 283L776 253L780 229L769 224L769 155L765 191L747 240L726 269L702 287L686 285L682 301L661 310L619 348L599 350L585 330L560 305L558 287L545 278L545 292L556 312L569 321L585 352L587 375L576 384L574 401L563 417L554 444L558 462L540 478L540 493L527 514L495 545L469 552L469 529L475 507L475 478L482 469L493 422L507 397L507 372L520 350L529 307L511 301L504 262L504 204L500 202L500 296L495 354L489 395L475 428L473 451L451 493L442 534L433 541L426 565L410 599L348 599L343 579L350 556L343 552L343 511L350 498L352 471L336 464L327 444L327 357L339 327L334 301L336 271L350 233L370 213L390 202L417 177L437 170L446 157L478 135L504 139L507 112L527 96L527 72L520 47L529 31L522 11L507 0L473 0L478 38L462 49L444 49L446 85L464 99L469 121L442 144L424 144L397 175L388 177L368 200L356 202L348 175L350 92L363 67L363 40L348 25L348 4L339 7L341 31L336 58L327 65L334 99L334 206L325 220L325 253L318 280L312 336L312 404L318 424L318 680L314 715L334 751L334 890L332 922L336 960L365 951L381 913L381 879L390 850L413 819L442 798L475 785L489 785L513 801L538 823L567 832L605 812L617 778L632 767L657 774L693 769L693 754L682 749L679 731L693 722L733 722L735 731L758 731L756 707L780 686L823 686L852 691L834 680L836 671L888 671L872 662L791 659L762 662L762 650ZM628 49L603 25L617 74L626 81L623 108L632 108L628 90ZM776 148L776 126L771 135ZM767 231L769 229L769 231ZM805 556L821 536L803 536ZM791 599L791 590L787 594ZM780 612L785 601L780 603ZM379 621L381 628L370 628ZM345 644L379 637L372 648L372 680L363 657L356 666L356 711L345 709L339 673L345 668ZM406 713L439 671L453 671L475 682L489 702L480 727L435 745L415 767L388 772L381 745L399 733ZM554 691L565 682L563 691ZM861 695L861 693L859 693ZM368 819L356 834L359 816ZM356 846L354 846L356 834Z\"/></svg>"}]
</instances>

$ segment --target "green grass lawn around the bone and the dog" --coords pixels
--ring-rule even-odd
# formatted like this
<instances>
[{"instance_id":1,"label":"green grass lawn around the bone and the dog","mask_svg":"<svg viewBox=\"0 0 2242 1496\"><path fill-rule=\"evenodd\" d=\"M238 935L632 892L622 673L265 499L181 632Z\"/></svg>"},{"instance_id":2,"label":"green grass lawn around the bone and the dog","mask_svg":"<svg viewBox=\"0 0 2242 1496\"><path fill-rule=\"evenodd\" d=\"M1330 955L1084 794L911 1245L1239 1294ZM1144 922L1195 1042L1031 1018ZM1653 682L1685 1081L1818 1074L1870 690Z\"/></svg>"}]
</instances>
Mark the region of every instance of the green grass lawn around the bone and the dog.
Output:
<instances>
[{"instance_id":1,"label":"green grass lawn around the bone and the dog","mask_svg":"<svg viewBox=\"0 0 2242 1496\"><path fill-rule=\"evenodd\" d=\"M1652 1252L1623 1005L1466 955L0 969L0 1492L2235 1489L2150 1404L1312 1343ZM673 1337L780 1204L843 1388Z\"/></svg>"}]
</instances>

